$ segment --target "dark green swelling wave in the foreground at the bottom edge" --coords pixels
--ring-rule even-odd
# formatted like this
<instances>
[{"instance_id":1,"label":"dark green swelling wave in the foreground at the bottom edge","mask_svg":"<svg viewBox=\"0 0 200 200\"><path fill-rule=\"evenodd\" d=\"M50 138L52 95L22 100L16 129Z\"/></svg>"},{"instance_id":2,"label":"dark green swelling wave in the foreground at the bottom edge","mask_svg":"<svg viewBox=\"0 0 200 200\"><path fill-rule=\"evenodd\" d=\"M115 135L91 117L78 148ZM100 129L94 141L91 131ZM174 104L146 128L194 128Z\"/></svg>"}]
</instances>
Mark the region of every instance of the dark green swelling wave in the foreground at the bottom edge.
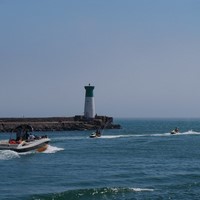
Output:
<instances>
[{"instance_id":1,"label":"dark green swelling wave in the foreground at the bottom edge","mask_svg":"<svg viewBox=\"0 0 200 200\"><path fill-rule=\"evenodd\" d=\"M122 187L112 187L112 188L94 188L94 189L79 189L79 190L69 190L61 193L46 194L46 195L34 195L32 199L40 200L102 200L102 199L127 199L127 195L138 193L138 192L153 192L152 188L122 188Z\"/></svg>"}]
</instances>

